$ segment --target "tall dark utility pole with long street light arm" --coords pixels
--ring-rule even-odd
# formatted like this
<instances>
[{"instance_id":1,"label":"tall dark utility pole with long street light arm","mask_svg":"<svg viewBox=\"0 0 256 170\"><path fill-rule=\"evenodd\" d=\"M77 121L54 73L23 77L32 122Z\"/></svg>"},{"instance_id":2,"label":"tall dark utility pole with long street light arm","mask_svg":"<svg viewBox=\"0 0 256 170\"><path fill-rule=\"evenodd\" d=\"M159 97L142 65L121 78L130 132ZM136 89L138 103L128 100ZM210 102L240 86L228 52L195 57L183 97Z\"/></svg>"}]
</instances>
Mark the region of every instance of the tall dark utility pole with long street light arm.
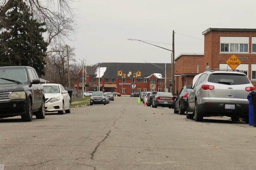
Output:
<instances>
[{"instance_id":1,"label":"tall dark utility pole with long street light arm","mask_svg":"<svg viewBox=\"0 0 256 170\"><path fill-rule=\"evenodd\" d=\"M147 43L147 42L141 41L139 39L128 39L128 40L132 40L132 41L135 40L135 41L140 41L140 42L143 42L143 43ZM147 44L150 44L150 43L147 43ZM154 44L150 44L150 45L154 45ZM168 50L168 51L172 51L172 55L171 55L171 60L172 60L172 87L171 88L172 88L172 94L174 94L174 30L172 31L172 50L169 50L169 49L157 46L157 45L154 45L154 46L165 49L165 50Z\"/></svg>"}]
</instances>

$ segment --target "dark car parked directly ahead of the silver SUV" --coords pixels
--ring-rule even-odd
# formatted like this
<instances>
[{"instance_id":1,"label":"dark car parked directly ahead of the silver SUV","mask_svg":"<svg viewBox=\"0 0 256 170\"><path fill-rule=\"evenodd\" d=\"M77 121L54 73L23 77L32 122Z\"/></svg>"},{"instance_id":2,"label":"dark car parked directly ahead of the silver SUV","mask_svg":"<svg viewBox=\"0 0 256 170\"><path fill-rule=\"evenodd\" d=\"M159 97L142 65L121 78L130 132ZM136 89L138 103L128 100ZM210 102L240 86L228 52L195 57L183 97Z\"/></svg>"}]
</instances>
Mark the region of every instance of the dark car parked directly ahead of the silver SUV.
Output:
<instances>
[{"instance_id":1,"label":"dark car parked directly ahead of the silver SUV","mask_svg":"<svg viewBox=\"0 0 256 170\"><path fill-rule=\"evenodd\" d=\"M185 113L188 104L188 94L191 90L192 85L184 86L178 93L178 96L174 98L174 113L179 113L180 115Z\"/></svg>"}]
</instances>

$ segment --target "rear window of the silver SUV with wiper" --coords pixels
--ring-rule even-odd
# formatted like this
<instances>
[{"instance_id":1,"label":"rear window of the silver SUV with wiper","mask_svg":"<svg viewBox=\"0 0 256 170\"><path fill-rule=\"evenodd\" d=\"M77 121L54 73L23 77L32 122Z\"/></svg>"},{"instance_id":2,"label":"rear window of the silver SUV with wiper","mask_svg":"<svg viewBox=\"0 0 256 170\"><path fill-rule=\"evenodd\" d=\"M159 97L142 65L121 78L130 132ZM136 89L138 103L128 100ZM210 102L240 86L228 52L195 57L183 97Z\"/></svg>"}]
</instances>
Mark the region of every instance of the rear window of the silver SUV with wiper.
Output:
<instances>
[{"instance_id":1,"label":"rear window of the silver SUV with wiper","mask_svg":"<svg viewBox=\"0 0 256 170\"><path fill-rule=\"evenodd\" d=\"M249 78L244 74L210 74L208 82L219 83L219 84L249 84Z\"/></svg>"}]
</instances>

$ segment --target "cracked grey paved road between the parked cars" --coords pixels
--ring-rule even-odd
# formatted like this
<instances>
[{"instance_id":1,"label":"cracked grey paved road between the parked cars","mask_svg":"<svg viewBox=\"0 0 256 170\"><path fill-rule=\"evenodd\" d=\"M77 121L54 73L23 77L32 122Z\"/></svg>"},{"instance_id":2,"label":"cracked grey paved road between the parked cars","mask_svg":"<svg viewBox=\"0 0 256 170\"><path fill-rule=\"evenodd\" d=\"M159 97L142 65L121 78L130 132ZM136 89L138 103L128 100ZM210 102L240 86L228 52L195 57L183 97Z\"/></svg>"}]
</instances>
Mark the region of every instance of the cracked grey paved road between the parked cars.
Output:
<instances>
[{"instance_id":1,"label":"cracked grey paved road between the parked cars","mask_svg":"<svg viewBox=\"0 0 256 170\"><path fill-rule=\"evenodd\" d=\"M0 120L5 170L255 170L256 128L227 117L195 122L116 97L45 119Z\"/></svg>"}]
</instances>

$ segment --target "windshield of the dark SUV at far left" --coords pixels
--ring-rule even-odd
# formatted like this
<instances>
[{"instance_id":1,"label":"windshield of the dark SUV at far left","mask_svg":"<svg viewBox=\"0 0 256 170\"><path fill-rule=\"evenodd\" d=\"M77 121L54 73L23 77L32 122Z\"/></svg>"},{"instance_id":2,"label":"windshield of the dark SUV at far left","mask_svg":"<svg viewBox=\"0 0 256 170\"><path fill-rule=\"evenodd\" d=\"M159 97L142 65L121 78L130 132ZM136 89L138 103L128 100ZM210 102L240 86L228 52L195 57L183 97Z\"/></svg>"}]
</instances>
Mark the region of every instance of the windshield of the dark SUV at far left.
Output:
<instances>
[{"instance_id":1,"label":"windshield of the dark SUV at far left","mask_svg":"<svg viewBox=\"0 0 256 170\"><path fill-rule=\"evenodd\" d=\"M0 84L23 84L28 82L25 68L0 69Z\"/></svg>"}]
</instances>

